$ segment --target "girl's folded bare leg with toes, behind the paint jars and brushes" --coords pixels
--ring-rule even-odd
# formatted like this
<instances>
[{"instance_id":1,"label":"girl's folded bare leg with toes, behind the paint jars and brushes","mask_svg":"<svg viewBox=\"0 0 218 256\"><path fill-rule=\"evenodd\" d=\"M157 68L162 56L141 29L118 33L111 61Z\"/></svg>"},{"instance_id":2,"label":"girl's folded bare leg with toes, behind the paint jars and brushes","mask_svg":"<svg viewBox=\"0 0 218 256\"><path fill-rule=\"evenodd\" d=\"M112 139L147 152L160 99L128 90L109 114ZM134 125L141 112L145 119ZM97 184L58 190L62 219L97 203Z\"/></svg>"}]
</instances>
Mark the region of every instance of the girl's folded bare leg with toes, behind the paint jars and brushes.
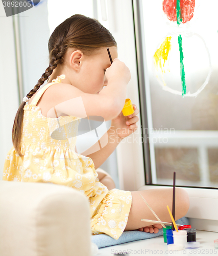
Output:
<instances>
[{"instance_id":1,"label":"girl's folded bare leg with toes, behind the paint jars and brushes","mask_svg":"<svg viewBox=\"0 0 218 256\"><path fill-rule=\"evenodd\" d=\"M167 205L172 212L173 204L173 188L158 188L141 191L132 191L132 205L127 221L125 231L129 230L140 230L144 232L158 232L158 228L162 226L160 224L143 222L141 219L157 220L153 215L152 211L144 203L140 194L151 208L154 210L156 215L164 222L172 222L169 216ZM187 192L179 187L176 187L176 209L175 209L175 220L184 217L189 208L189 198ZM152 225L154 224L154 225Z\"/></svg>"}]
</instances>

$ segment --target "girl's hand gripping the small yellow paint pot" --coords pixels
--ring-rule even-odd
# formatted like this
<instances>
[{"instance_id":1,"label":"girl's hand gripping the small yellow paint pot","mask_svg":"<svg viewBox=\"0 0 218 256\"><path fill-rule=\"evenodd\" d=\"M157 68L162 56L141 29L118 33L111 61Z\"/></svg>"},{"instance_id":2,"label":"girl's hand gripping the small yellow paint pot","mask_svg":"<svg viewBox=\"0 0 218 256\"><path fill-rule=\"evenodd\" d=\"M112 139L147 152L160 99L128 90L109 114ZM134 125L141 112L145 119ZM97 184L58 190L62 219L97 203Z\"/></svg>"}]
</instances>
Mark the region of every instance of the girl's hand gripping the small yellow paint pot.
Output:
<instances>
[{"instance_id":1,"label":"girl's hand gripping the small yellow paint pot","mask_svg":"<svg viewBox=\"0 0 218 256\"><path fill-rule=\"evenodd\" d=\"M139 113L137 106L133 104L134 113L130 116L124 116L121 111L119 115L111 120L111 127L115 133L121 138L125 138L137 130L139 118L136 116Z\"/></svg>"}]
</instances>

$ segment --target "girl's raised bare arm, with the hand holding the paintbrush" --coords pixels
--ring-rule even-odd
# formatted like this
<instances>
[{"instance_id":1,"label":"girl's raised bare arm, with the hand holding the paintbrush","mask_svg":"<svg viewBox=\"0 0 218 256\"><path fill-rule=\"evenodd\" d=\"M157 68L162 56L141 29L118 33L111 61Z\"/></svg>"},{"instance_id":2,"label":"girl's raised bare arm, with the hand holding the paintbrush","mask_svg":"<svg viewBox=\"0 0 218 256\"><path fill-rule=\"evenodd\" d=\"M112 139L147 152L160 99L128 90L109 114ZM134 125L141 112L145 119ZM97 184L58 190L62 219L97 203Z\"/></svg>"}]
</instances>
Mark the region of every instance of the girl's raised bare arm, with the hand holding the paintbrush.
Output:
<instances>
[{"instance_id":1,"label":"girl's raised bare arm, with the hand holding the paintbrush","mask_svg":"<svg viewBox=\"0 0 218 256\"><path fill-rule=\"evenodd\" d=\"M56 110L50 109L47 117L53 117L55 111L80 118L101 116L105 121L118 116L125 103L130 72L123 62L115 60L105 75L108 83L99 94L84 93L67 83L54 84L51 98Z\"/></svg>"}]
</instances>

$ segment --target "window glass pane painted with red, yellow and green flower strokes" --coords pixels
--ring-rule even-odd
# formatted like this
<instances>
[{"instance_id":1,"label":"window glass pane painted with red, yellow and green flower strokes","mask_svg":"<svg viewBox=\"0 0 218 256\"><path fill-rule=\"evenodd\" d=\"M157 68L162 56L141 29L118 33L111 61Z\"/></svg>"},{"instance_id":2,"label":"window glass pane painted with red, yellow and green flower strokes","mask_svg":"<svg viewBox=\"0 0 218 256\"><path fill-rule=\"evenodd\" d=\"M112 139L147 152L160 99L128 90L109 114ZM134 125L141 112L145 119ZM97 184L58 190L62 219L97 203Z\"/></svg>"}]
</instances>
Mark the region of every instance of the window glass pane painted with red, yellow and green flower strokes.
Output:
<instances>
[{"instance_id":1,"label":"window glass pane painted with red, yellow and green flower strokes","mask_svg":"<svg viewBox=\"0 0 218 256\"><path fill-rule=\"evenodd\" d=\"M142 9L152 183L218 187L218 2Z\"/></svg>"}]
</instances>

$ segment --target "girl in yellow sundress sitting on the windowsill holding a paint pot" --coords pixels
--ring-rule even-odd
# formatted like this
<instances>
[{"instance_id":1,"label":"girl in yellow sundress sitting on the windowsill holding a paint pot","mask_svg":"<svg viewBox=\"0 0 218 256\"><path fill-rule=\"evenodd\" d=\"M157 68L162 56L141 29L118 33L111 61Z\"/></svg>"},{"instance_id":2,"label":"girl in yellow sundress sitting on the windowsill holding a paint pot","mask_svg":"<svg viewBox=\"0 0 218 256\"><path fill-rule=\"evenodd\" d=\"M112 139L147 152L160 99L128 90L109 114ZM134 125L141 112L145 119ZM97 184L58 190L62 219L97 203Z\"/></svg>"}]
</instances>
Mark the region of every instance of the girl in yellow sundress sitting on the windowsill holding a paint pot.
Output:
<instances>
[{"instance_id":1,"label":"girl in yellow sundress sitting on the windowsill holding a paint pot","mask_svg":"<svg viewBox=\"0 0 218 256\"><path fill-rule=\"evenodd\" d=\"M172 188L124 191L114 188L102 170L97 178L96 169L123 138L136 131L139 120L136 105L134 114L122 114L130 71L117 59L116 41L98 20L77 14L54 30L49 53L49 67L17 111L3 179L78 189L89 199L92 234L106 233L118 239L124 230L157 233L160 224L141 221L154 217L139 194L162 221L170 222L166 205L172 205ZM39 90L45 80L48 83ZM111 120L111 127L103 135L107 144L101 150L79 154L76 134L86 116ZM177 220L189 207L185 190L176 189L176 202Z\"/></svg>"}]
</instances>

